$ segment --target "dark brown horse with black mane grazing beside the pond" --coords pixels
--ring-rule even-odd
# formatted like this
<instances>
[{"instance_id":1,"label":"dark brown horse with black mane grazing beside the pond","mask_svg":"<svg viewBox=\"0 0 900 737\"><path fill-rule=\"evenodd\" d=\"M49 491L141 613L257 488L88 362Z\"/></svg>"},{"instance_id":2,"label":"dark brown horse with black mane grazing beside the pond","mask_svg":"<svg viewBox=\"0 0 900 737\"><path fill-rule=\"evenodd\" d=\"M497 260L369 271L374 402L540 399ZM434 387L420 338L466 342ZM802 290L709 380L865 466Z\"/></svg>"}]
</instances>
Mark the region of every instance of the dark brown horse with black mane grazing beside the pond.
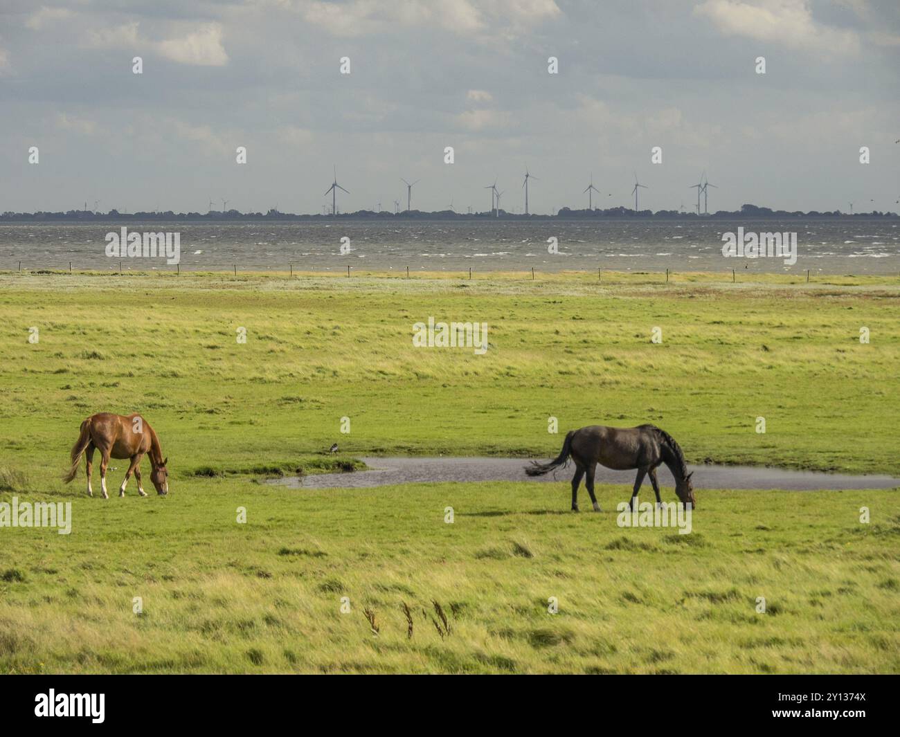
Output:
<instances>
[{"instance_id":1,"label":"dark brown horse with black mane grazing beside the pond","mask_svg":"<svg viewBox=\"0 0 900 737\"><path fill-rule=\"evenodd\" d=\"M675 442L675 438L655 425L640 427L592 425L572 430L565 436L563 450L556 460L550 463L532 462L525 472L529 476L543 476L554 468L566 466L570 457L575 462L575 475L572 477L573 512L578 511L578 485L585 474L588 477L585 486L588 487L590 500L594 503L594 511L600 511L597 497L594 496L594 473L597 471L598 463L616 471L637 469L635 493L631 496L632 508L637 492L644 482L644 476L647 475L653 483L656 501L662 503L660 485L656 481L656 469L661 463L665 463L675 477L675 493L681 502L697 507L694 486L690 481L690 477L694 474L688 472L688 464L685 463L680 446Z\"/></svg>"}]
</instances>

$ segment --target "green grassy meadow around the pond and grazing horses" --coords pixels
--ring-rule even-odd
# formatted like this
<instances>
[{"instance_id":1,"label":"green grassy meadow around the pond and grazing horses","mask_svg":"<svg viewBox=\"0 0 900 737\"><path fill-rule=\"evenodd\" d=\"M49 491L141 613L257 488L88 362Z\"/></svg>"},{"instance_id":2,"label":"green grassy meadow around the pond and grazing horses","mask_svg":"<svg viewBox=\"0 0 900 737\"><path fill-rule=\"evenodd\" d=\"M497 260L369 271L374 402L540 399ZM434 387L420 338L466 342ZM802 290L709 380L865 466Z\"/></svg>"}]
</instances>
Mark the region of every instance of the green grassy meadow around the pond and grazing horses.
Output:
<instances>
[{"instance_id":1,"label":"green grassy meadow around the pond and grazing horses","mask_svg":"<svg viewBox=\"0 0 900 737\"><path fill-rule=\"evenodd\" d=\"M703 490L677 535L617 526L626 487L568 512L566 474L261 481L643 422L690 463L900 475L898 302L889 277L0 274L0 501L73 514L0 528L0 672L897 672L900 490ZM429 316L488 323L487 354L413 347ZM157 430L168 498L118 499L116 461L109 500L59 480L97 411Z\"/></svg>"}]
</instances>

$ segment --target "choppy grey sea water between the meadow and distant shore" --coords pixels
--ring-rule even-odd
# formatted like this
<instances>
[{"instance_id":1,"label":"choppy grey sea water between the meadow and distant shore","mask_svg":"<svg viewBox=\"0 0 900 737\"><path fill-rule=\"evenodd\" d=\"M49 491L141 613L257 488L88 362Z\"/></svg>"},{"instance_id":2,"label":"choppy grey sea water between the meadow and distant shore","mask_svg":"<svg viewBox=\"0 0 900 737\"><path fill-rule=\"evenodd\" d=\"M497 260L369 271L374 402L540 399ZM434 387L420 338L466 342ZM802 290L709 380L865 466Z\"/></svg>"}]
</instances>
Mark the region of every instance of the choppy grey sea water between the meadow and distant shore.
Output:
<instances>
[{"instance_id":1,"label":"choppy grey sea water between the meadow and distant shore","mask_svg":"<svg viewBox=\"0 0 900 737\"><path fill-rule=\"evenodd\" d=\"M118 270L105 254L108 223L13 223L0 226L0 269ZM597 268L621 271L730 271L889 274L900 271L896 219L796 220L427 220L420 222L130 222L129 231L181 234L182 270L466 271ZM797 264L780 258L726 258L722 234L796 232ZM341 238L350 252L341 254ZM547 253L557 238L559 255ZM123 269L175 270L164 259L124 259Z\"/></svg>"}]
</instances>

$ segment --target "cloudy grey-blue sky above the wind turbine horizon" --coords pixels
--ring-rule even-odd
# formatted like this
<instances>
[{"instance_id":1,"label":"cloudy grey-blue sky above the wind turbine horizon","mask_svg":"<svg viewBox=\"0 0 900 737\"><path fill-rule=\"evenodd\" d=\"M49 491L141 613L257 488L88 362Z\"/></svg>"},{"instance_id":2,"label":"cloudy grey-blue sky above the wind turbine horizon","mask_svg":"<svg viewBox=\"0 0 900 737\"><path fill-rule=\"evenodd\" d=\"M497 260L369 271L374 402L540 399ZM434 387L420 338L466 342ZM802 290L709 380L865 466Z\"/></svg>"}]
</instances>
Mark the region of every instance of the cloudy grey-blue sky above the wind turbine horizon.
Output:
<instances>
[{"instance_id":1,"label":"cloudy grey-blue sky above the wind turbine horizon","mask_svg":"<svg viewBox=\"0 0 900 737\"><path fill-rule=\"evenodd\" d=\"M900 210L897 0L0 9L0 211L317 212L332 165L341 211L405 204L401 176L414 209L487 210L496 178L522 211L526 166L533 212L586 207L591 173L633 206L635 171L642 209L690 209L704 170L711 211Z\"/></svg>"}]
</instances>

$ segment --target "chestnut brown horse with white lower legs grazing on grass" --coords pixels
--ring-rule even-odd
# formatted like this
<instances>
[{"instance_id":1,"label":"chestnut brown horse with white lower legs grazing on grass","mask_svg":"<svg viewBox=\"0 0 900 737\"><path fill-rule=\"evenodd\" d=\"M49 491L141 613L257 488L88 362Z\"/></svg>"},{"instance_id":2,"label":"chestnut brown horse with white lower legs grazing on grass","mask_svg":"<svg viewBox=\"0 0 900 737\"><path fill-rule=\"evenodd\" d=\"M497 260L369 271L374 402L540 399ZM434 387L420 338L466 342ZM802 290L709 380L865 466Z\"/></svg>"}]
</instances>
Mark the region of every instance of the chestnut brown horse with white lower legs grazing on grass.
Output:
<instances>
[{"instance_id":1,"label":"chestnut brown horse with white lower legs grazing on grass","mask_svg":"<svg viewBox=\"0 0 900 737\"><path fill-rule=\"evenodd\" d=\"M125 496L125 486L133 472L138 480L138 493L146 497L143 486L140 483L140 459L148 454L150 459L150 481L156 487L157 494L164 496L168 493L168 471L159 447L159 438L147 420L140 415L112 415L109 412L101 412L91 415L81 423L81 433L76 444L72 446L72 467L63 476L63 481L68 483L75 478L78 472L78 464L81 456L86 454L87 463L87 496L93 497L91 490L91 467L94 462L94 450L100 451L100 485L103 489L103 499L109 499L106 493L106 467L110 458L128 458L130 465L125 472L125 479L119 487L119 496Z\"/></svg>"}]
</instances>

